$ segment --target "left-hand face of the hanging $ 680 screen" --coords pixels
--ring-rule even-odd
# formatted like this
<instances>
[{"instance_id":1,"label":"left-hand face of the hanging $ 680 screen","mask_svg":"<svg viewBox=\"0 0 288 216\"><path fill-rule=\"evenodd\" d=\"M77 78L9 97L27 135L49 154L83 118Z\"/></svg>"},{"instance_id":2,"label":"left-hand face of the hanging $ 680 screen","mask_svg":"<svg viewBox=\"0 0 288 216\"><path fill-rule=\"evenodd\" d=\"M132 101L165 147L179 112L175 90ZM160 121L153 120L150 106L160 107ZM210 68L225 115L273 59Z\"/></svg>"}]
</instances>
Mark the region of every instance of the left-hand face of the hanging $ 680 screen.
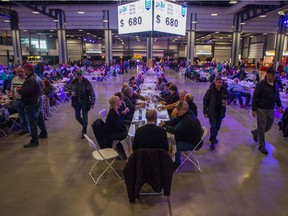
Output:
<instances>
[{"instance_id":1,"label":"left-hand face of the hanging $ 680 screen","mask_svg":"<svg viewBox=\"0 0 288 216\"><path fill-rule=\"evenodd\" d=\"M152 31L152 0L118 6L119 34Z\"/></svg>"}]
</instances>

